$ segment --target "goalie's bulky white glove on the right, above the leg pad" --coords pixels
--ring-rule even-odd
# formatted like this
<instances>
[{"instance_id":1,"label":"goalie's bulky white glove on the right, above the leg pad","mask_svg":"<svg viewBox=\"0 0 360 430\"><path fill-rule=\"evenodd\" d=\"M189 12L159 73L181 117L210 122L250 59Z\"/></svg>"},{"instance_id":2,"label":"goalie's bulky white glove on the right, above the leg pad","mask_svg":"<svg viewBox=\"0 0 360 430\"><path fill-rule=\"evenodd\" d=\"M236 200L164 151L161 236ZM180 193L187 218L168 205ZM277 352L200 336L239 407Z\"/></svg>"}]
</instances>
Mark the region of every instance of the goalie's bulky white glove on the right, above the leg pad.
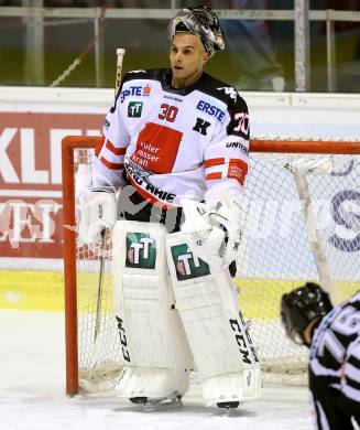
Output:
<instances>
[{"instance_id":1,"label":"goalie's bulky white glove on the right, above the leg pad","mask_svg":"<svg viewBox=\"0 0 360 430\"><path fill-rule=\"evenodd\" d=\"M192 233L188 244L196 257L222 270L239 255L240 204L228 193L212 190L206 193L205 201L182 200L182 232Z\"/></svg>"}]
</instances>

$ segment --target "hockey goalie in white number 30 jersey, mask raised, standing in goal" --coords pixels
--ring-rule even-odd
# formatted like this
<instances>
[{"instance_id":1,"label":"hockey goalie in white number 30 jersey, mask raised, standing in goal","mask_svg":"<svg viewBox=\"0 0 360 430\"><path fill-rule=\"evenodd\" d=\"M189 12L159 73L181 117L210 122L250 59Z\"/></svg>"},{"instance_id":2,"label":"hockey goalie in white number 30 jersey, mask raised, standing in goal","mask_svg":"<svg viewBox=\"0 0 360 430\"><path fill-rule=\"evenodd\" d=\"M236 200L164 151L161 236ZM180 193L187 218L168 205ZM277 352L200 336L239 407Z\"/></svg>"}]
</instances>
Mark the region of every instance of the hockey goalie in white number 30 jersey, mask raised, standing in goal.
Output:
<instances>
[{"instance_id":1,"label":"hockey goalie in white number 30 jersey, mask raised, standing in goal","mask_svg":"<svg viewBox=\"0 0 360 430\"><path fill-rule=\"evenodd\" d=\"M119 396L179 405L195 370L207 406L233 408L260 396L231 280L241 260L248 108L203 72L223 50L209 8L178 12L168 35L171 68L124 75L90 171L79 170L78 240L112 232Z\"/></svg>"}]
</instances>

